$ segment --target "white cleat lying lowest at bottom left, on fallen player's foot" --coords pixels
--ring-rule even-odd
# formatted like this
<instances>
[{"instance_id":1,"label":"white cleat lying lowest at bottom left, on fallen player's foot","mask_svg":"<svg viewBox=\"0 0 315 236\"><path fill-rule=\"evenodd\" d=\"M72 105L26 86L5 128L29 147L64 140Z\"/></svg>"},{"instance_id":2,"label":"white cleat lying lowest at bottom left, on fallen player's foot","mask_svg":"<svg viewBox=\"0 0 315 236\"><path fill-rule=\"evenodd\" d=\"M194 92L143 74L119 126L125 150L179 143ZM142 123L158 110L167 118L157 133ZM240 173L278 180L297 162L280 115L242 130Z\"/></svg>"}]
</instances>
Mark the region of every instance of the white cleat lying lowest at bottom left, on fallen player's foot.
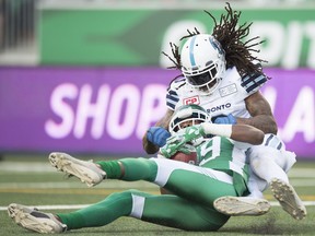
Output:
<instances>
[{"instance_id":1,"label":"white cleat lying lowest at bottom left, on fallen player's foot","mask_svg":"<svg viewBox=\"0 0 315 236\"><path fill-rule=\"evenodd\" d=\"M42 234L59 234L67 231L67 225L52 214L36 211L25 205L12 203L8 206L9 216L20 226Z\"/></svg>"}]
</instances>

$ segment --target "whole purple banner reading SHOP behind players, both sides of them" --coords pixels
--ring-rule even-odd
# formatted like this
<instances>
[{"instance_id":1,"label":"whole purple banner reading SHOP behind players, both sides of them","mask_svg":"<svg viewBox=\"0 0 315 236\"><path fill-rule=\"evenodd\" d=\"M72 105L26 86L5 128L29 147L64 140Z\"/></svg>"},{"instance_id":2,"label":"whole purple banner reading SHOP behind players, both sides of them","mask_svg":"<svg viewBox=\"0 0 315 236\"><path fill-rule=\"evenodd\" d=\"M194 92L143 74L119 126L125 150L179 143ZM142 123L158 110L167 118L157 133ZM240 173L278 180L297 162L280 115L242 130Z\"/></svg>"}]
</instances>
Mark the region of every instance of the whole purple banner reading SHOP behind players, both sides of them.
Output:
<instances>
[{"instance_id":1,"label":"whole purple banner reading SHOP behind players, both sides of them","mask_svg":"<svg viewBox=\"0 0 315 236\"><path fill-rule=\"evenodd\" d=\"M269 69L262 88L288 150L315 156L315 71ZM0 151L145 155L178 74L159 68L0 68Z\"/></svg>"}]
</instances>

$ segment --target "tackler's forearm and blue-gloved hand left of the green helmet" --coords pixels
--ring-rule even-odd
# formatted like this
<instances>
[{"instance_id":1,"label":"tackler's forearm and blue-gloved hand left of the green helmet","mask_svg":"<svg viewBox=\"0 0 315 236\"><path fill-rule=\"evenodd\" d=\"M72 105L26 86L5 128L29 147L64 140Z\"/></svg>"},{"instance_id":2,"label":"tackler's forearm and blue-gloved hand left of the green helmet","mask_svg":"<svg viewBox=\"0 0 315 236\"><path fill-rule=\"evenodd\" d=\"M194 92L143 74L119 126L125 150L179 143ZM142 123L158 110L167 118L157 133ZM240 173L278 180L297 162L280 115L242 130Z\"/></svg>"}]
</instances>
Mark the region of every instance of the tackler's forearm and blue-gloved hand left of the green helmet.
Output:
<instances>
[{"instance_id":1,"label":"tackler's forearm and blue-gloved hand left of the green helmet","mask_svg":"<svg viewBox=\"0 0 315 236\"><path fill-rule=\"evenodd\" d=\"M164 128L165 130L168 130L168 123L170 123L170 121L171 121L171 118L172 118L172 116L173 116L173 113L174 113L173 110L167 109L167 111L166 111L166 114L164 115L164 117L162 117L162 119L159 120L159 121L155 123L154 127L162 127L162 128ZM150 128L150 129L152 129L152 128ZM144 137L142 138L142 145L143 145L144 151L145 151L148 154L154 154L154 153L156 153L156 152L159 151L160 146L156 145L156 144L154 144L154 143L152 143L152 142L150 142L150 141L148 140L148 132L151 132L151 131L152 131L152 130L150 130L150 129L145 132ZM150 133L150 134L153 134L153 135L154 135L154 133ZM158 133L158 134L159 134L159 133ZM154 138L154 137L153 137L153 138ZM156 138L161 138L161 137L156 137Z\"/></svg>"}]
</instances>

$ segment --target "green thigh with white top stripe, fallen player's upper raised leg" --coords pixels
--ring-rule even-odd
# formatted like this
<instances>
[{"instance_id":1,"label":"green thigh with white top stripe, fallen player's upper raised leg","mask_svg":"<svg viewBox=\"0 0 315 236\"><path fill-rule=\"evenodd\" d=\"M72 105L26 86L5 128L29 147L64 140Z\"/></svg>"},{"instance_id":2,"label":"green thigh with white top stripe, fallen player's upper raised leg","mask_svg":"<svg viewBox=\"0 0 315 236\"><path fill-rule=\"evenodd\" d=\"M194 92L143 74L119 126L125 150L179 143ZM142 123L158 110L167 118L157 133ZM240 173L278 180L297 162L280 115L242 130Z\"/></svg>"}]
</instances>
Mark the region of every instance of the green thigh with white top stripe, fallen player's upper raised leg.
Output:
<instances>
[{"instance_id":1,"label":"green thigh with white top stripe, fallen player's upper raised leg","mask_svg":"<svg viewBox=\"0 0 315 236\"><path fill-rule=\"evenodd\" d=\"M158 165L153 182L166 190L207 206L222 196L237 196L232 176L177 161L152 158ZM245 190L244 186L244 190Z\"/></svg>"}]
</instances>

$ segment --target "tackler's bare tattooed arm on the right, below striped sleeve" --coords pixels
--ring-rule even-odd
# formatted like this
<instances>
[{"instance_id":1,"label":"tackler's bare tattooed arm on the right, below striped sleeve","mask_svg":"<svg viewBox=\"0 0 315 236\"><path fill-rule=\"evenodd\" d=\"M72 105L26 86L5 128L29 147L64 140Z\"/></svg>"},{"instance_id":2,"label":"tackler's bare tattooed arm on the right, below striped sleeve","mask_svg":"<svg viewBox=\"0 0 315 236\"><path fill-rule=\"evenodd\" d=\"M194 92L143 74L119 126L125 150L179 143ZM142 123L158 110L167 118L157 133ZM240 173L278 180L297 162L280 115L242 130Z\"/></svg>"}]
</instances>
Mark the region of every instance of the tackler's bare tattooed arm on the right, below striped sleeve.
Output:
<instances>
[{"instance_id":1,"label":"tackler's bare tattooed arm on the right, below striped sleeve","mask_svg":"<svg viewBox=\"0 0 315 236\"><path fill-rule=\"evenodd\" d=\"M246 108L250 114L250 118L236 118L236 123L244 123L256 127L265 133L277 134L278 127L271 108L266 98L256 92L245 99Z\"/></svg>"}]
</instances>

